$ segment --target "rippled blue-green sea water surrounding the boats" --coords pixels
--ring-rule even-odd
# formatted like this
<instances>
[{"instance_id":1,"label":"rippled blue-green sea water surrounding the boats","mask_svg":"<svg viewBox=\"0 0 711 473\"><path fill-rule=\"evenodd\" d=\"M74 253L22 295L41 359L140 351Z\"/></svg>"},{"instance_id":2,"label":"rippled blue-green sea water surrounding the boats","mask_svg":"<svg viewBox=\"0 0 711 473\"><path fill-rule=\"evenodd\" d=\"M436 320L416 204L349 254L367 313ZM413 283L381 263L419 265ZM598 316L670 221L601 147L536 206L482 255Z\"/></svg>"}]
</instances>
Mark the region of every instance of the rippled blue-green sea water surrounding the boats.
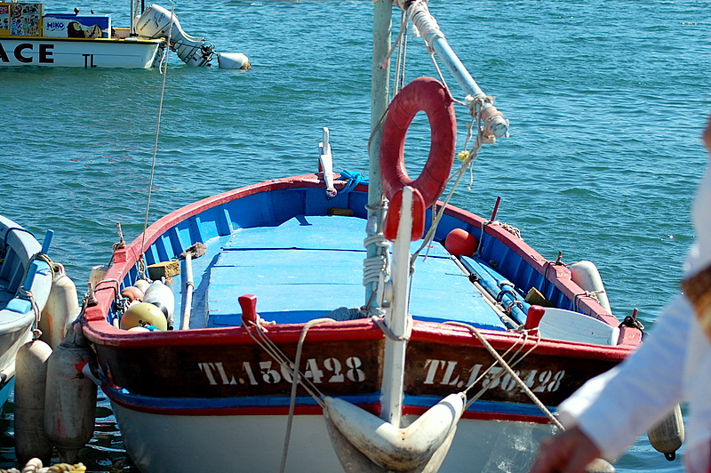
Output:
<instances>
[{"instance_id":1,"label":"rippled blue-green sea water surrounding the boats","mask_svg":"<svg viewBox=\"0 0 711 473\"><path fill-rule=\"evenodd\" d=\"M78 7L128 23L128 2L86 1L48 2L45 12ZM324 126L335 170L368 173L371 2L174 8L188 34L219 52L244 52L252 69L189 68L174 55L166 76L0 69L2 214L40 239L47 228L56 232L50 256L80 293L89 269L108 262L117 222L131 241L144 222L199 198L315 172ZM615 315L638 309L651 328L679 292L694 237L691 199L707 164L699 135L711 113L708 4L432 0L430 10L510 120L510 136L479 152L453 203L489 217L500 196L499 220L548 260L562 252L566 263L594 261ZM408 36L415 54L405 82L435 76L421 42ZM416 125L407 145L412 174L427 156L427 146L419 149L427 123ZM0 468L16 466L12 448L11 402L0 419ZM89 471L137 471L101 393L81 461ZM682 471L645 437L616 466Z\"/></svg>"}]
</instances>

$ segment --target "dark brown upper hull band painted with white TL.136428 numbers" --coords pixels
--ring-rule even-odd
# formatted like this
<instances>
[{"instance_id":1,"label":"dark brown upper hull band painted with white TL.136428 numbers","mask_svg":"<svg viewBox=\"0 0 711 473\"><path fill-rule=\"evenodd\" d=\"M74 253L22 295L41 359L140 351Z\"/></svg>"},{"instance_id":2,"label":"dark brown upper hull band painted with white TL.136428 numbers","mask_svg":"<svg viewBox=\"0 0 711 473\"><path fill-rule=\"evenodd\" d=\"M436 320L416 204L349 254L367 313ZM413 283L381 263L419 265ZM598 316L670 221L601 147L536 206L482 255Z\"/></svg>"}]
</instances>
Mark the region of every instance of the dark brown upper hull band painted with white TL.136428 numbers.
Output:
<instances>
[{"instance_id":1,"label":"dark brown upper hull band painted with white TL.136428 numbers","mask_svg":"<svg viewBox=\"0 0 711 473\"><path fill-rule=\"evenodd\" d=\"M268 329L274 333L277 347L293 360L300 327ZM288 405L292 386L288 370L257 346L244 329L231 332L220 334L208 329L204 336L195 333L196 338L183 344L152 341L126 349L98 346L97 355L111 384L130 395L125 399L134 399L126 402L147 412L180 415L188 410L217 415L259 410L260 405ZM427 340L435 332L439 333L438 340ZM510 347L525 352L535 346L535 341L521 343L518 337L507 333L487 335L499 353ZM314 327L303 344L302 373L326 396L377 402L383 342L382 333L370 319ZM541 341L531 355L515 366L546 405L558 405L583 382L610 369L627 354L626 349L568 345ZM464 329L416 322L406 360L405 408L411 412L435 405L442 397L474 384L471 396L479 389L487 389L481 402L472 405L465 417L496 418L500 413L500 419L546 421L509 375L496 378L500 367L484 373L493 357ZM480 375L483 379L477 381ZM303 389L297 394L308 397ZM213 402L218 399L220 402Z\"/></svg>"}]
</instances>

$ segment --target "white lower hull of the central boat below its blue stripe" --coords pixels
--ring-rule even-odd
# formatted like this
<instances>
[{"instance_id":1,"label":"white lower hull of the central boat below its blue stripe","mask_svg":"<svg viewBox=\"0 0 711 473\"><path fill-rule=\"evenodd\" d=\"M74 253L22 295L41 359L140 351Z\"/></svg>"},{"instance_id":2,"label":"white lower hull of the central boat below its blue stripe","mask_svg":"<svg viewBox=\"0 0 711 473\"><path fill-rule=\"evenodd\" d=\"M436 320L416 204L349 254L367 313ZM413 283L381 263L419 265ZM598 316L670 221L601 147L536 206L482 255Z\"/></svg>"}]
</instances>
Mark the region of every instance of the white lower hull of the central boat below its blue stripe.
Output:
<instances>
[{"instance_id":1,"label":"white lower hull of the central boat below its blue stripe","mask_svg":"<svg viewBox=\"0 0 711 473\"><path fill-rule=\"evenodd\" d=\"M112 405L127 450L143 473L280 470L285 415L164 415ZM552 429L533 422L461 419L439 471L526 471L540 439ZM343 470L322 415L294 416L285 470Z\"/></svg>"}]
</instances>

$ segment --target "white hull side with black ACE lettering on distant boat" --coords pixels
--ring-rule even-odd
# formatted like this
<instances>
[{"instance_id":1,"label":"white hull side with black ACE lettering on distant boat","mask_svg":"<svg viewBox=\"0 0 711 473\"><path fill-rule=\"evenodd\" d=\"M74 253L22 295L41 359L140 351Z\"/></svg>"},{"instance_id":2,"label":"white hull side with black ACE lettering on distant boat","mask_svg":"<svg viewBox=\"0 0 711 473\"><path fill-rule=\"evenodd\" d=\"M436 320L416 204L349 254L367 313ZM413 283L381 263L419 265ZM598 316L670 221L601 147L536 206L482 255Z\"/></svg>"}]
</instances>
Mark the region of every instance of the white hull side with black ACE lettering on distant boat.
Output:
<instances>
[{"instance_id":1,"label":"white hull side with black ACE lettering on distant boat","mask_svg":"<svg viewBox=\"0 0 711 473\"><path fill-rule=\"evenodd\" d=\"M0 37L0 67L151 68L163 40Z\"/></svg>"}]
</instances>

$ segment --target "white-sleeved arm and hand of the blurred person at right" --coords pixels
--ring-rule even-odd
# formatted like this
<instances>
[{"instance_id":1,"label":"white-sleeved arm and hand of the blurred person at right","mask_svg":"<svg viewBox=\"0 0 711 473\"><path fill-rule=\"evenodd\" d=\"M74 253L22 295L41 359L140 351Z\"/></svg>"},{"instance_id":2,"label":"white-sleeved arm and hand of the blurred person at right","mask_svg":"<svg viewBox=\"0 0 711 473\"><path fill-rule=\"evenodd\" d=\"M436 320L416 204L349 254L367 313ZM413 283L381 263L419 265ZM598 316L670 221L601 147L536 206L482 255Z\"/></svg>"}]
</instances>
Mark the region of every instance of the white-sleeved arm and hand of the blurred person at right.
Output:
<instances>
[{"instance_id":1,"label":"white-sleeved arm and hand of the blurred person at right","mask_svg":"<svg viewBox=\"0 0 711 473\"><path fill-rule=\"evenodd\" d=\"M566 430L541 444L531 473L579 473L601 454L615 458L679 402L692 317L677 297L635 354L564 401L558 415Z\"/></svg>"}]
</instances>

